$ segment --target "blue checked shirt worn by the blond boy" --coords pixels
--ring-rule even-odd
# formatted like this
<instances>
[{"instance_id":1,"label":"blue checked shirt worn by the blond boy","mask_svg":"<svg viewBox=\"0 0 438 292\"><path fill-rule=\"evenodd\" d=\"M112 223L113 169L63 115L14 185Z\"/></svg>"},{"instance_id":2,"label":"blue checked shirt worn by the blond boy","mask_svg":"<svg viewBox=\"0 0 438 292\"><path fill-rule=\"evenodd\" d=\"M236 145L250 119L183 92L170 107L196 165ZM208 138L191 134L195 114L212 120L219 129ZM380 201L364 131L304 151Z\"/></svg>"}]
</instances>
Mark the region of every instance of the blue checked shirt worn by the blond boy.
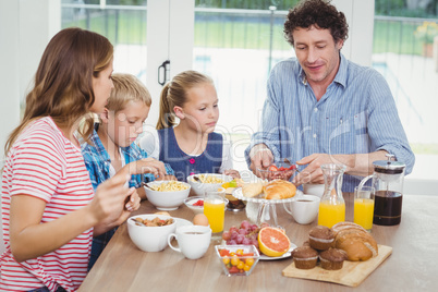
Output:
<instances>
[{"instance_id":1,"label":"blue checked shirt worn by the blond boy","mask_svg":"<svg viewBox=\"0 0 438 292\"><path fill-rule=\"evenodd\" d=\"M111 159L105 149L97 132L94 131L89 142L92 145L83 142L81 145L82 155L84 156L85 166L89 172L89 179L93 184L93 188L96 191L97 186L110 179L110 166ZM124 157L125 165L136 161L143 158L147 158L147 153L142 150L135 143L131 144L129 147L121 148L121 153ZM172 168L165 163L167 174L173 175ZM155 177L150 173L131 175L129 182L130 187L141 187L142 181L150 182L154 181ZM115 233L117 228L107 231L99 236L93 239L92 254L88 263L88 270L92 269L93 265L96 263L97 258L107 246L108 242L111 240L112 235Z\"/></svg>"}]
</instances>

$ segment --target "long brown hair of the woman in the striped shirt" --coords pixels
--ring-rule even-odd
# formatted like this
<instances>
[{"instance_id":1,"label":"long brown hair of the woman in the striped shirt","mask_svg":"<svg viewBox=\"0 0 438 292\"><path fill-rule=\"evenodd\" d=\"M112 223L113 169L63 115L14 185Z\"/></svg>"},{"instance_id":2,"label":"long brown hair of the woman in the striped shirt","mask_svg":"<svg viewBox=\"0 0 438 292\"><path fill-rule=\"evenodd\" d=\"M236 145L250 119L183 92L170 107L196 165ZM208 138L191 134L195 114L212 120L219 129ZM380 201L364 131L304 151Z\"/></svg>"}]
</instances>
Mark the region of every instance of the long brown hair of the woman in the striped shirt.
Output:
<instances>
[{"instance_id":1,"label":"long brown hair of the woman in the striped shirt","mask_svg":"<svg viewBox=\"0 0 438 292\"><path fill-rule=\"evenodd\" d=\"M51 117L58 126L72 127L89 113L95 102L93 77L111 64L112 57L111 42L99 34L71 27L54 35L42 53L34 87L26 96L23 120L9 136L4 154L36 119ZM93 119L85 123L87 126L81 134L89 136Z\"/></svg>"}]
</instances>

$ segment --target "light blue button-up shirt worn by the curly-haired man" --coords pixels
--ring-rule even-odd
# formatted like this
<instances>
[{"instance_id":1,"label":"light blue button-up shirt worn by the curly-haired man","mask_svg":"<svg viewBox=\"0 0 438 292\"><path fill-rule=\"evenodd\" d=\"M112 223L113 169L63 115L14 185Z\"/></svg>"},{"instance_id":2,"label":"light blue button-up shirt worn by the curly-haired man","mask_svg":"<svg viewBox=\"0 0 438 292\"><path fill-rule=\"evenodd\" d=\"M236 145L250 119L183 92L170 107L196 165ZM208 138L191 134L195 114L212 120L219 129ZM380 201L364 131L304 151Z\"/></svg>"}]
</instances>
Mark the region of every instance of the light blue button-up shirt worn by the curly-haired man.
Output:
<instances>
[{"instance_id":1,"label":"light blue button-up shirt worn by the curly-haired man","mask_svg":"<svg viewBox=\"0 0 438 292\"><path fill-rule=\"evenodd\" d=\"M357 65L341 54L333 82L319 101L296 58L278 63L268 80L260 131L252 136L248 153L266 144L275 159L296 161L316 153L366 154L387 150L413 169L415 157L385 78L374 69ZM362 177L344 175L342 190L353 192Z\"/></svg>"}]
</instances>

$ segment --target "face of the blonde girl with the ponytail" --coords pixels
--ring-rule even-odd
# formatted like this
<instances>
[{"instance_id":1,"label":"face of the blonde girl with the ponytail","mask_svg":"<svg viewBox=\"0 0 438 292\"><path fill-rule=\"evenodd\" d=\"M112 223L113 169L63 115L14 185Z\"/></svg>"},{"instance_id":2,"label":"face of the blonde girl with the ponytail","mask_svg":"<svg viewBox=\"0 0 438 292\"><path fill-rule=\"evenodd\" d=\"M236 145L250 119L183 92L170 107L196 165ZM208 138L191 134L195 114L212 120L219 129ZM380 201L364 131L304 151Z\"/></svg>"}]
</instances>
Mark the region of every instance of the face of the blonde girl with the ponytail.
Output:
<instances>
[{"instance_id":1,"label":"face of the blonde girl with the ponytail","mask_svg":"<svg viewBox=\"0 0 438 292\"><path fill-rule=\"evenodd\" d=\"M218 96L210 83L203 83L187 90L187 102L182 107L181 122L200 133L211 133L219 120Z\"/></svg>"}]
</instances>

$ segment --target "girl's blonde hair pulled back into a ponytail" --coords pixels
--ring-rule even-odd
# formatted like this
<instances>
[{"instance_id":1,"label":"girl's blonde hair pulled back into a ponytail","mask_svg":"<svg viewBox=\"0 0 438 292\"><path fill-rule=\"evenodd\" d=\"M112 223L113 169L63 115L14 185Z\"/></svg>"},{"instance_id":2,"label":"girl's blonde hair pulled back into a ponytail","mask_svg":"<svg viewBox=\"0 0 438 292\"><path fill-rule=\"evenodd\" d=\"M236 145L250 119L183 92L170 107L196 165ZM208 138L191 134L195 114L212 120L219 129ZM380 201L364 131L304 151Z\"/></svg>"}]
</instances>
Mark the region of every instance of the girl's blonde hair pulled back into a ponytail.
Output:
<instances>
[{"instance_id":1,"label":"girl's blonde hair pulled back into a ponytail","mask_svg":"<svg viewBox=\"0 0 438 292\"><path fill-rule=\"evenodd\" d=\"M173 108L175 106L183 107L188 101L187 92L203 83L214 84L209 76L188 70L175 75L171 82L165 85L160 96L160 115L157 130L177 124Z\"/></svg>"}]
</instances>

